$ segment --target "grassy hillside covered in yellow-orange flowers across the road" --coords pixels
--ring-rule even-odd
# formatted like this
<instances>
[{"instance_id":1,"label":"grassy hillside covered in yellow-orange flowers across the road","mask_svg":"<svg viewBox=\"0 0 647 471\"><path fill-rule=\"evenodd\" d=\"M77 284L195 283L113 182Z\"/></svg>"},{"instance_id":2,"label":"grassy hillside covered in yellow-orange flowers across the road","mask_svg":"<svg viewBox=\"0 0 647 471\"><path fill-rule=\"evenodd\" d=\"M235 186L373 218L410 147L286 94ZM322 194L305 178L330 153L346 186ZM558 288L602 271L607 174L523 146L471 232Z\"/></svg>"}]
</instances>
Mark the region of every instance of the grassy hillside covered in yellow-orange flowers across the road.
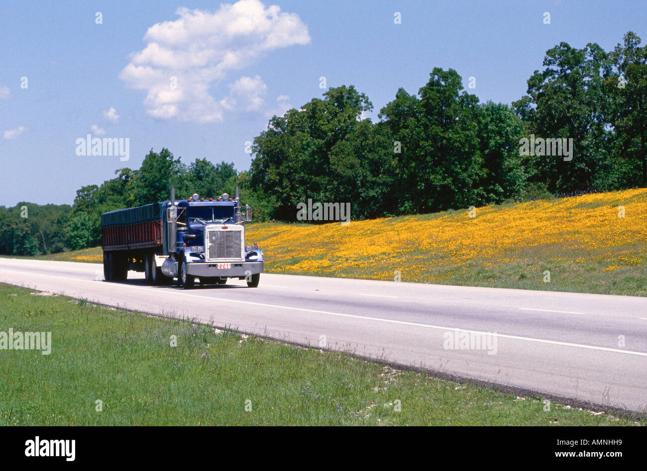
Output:
<instances>
[{"instance_id":1,"label":"grassy hillside covered in yellow-orange flowers across the road","mask_svg":"<svg viewBox=\"0 0 647 471\"><path fill-rule=\"evenodd\" d=\"M619 217L619 207L624 217ZM296 211L296 210L295 210ZM647 189L336 224L252 223L265 271L647 296ZM47 255L101 262L101 249ZM550 271L550 281L545 271Z\"/></svg>"}]
</instances>

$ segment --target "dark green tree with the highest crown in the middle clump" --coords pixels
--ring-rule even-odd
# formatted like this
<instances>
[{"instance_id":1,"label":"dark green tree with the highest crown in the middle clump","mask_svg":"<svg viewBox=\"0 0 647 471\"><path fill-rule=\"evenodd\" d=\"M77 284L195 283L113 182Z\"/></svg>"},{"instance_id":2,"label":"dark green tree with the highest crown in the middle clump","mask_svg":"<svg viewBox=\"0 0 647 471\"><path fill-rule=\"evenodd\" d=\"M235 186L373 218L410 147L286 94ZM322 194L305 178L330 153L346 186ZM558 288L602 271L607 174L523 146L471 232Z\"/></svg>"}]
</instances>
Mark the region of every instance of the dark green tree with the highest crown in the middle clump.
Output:
<instances>
[{"instance_id":1,"label":"dark green tree with the highest crown in the middle clump","mask_svg":"<svg viewBox=\"0 0 647 471\"><path fill-rule=\"evenodd\" d=\"M453 69L434 68L419 97L398 90L378 115L402 146L397 194L402 213L428 213L485 202L478 98L462 92Z\"/></svg>"}]
</instances>

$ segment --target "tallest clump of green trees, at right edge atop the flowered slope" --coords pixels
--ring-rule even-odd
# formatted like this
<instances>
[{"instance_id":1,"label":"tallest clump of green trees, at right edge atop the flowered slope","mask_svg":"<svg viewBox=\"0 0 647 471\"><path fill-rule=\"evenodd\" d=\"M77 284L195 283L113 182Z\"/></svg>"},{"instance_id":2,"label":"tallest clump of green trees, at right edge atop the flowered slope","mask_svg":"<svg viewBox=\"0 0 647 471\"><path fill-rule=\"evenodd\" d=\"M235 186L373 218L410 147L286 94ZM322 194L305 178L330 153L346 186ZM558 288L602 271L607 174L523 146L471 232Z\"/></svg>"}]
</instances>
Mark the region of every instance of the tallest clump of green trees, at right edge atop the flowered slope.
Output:
<instances>
[{"instance_id":1,"label":"tallest clump of green trees, at right edge atop the flowered slope","mask_svg":"<svg viewBox=\"0 0 647 471\"><path fill-rule=\"evenodd\" d=\"M560 43L513 103L524 136L573 138L573 160L528 156L529 180L551 193L647 185L647 48L633 32L607 53ZM624 83L623 83L624 81Z\"/></svg>"}]
</instances>

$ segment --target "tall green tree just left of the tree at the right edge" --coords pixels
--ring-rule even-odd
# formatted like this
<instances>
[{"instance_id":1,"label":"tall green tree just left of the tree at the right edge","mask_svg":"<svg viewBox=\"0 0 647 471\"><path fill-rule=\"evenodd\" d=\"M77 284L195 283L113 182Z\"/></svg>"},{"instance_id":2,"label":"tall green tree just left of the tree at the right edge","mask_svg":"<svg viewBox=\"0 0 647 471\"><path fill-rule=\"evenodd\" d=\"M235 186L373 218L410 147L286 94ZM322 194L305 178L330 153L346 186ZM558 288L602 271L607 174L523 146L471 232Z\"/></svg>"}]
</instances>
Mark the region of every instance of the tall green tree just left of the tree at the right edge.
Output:
<instances>
[{"instance_id":1,"label":"tall green tree just left of the tree at the right edge","mask_svg":"<svg viewBox=\"0 0 647 471\"><path fill-rule=\"evenodd\" d=\"M530 155L530 179L551 192L605 189L611 165L611 135L605 116L604 78L611 74L607 54L597 44L583 49L567 43L547 50L545 69L528 79L528 95L513 103L534 138L573 140L572 160ZM531 138L526 134L525 138ZM568 142L568 141L567 141Z\"/></svg>"}]
</instances>

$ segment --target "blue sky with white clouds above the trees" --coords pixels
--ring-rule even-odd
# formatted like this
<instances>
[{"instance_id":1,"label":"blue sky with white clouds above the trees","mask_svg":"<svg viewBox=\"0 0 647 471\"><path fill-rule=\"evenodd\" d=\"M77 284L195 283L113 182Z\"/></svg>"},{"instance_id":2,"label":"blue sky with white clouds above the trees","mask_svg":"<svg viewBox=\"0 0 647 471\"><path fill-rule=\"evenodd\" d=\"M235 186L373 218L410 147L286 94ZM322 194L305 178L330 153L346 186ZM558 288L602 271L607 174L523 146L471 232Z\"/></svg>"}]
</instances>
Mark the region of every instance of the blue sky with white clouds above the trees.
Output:
<instances>
[{"instance_id":1,"label":"blue sky with white clouds above the trees","mask_svg":"<svg viewBox=\"0 0 647 471\"><path fill-rule=\"evenodd\" d=\"M377 120L433 67L454 68L466 89L474 76L468 91L483 102L510 103L560 41L610 50L630 30L647 41L644 0L232 4L3 0L0 205L71 204L151 148L248 169L245 142L272 114L320 97L322 76L366 93ZM78 156L89 133L128 138L129 160Z\"/></svg>"}]
</instances>

